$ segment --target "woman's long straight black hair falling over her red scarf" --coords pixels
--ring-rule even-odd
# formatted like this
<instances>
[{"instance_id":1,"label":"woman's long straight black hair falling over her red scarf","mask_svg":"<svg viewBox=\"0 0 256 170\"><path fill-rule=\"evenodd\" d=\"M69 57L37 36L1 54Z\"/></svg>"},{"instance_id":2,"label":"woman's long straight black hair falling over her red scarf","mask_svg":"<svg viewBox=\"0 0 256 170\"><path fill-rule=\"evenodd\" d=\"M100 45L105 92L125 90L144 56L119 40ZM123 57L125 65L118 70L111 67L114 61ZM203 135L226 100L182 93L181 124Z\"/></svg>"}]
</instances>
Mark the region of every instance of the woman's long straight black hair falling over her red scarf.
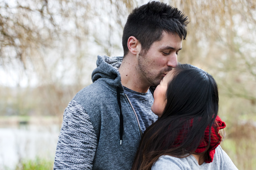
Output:
<instances>
[{"instance_id":1,"label":"woman's long straight black hair falling over her red scarf","mask_svg":"<svg viewBox=\"0 0 256 170\"><path fill-rule=\"evenodd\" d=\"M151 169L162 155L183 158L194 153L218 114L218 87L212 75L189 64L178 64L173 71L164 112L144 132L132 170Z\"/></svg>"}]
</instances>

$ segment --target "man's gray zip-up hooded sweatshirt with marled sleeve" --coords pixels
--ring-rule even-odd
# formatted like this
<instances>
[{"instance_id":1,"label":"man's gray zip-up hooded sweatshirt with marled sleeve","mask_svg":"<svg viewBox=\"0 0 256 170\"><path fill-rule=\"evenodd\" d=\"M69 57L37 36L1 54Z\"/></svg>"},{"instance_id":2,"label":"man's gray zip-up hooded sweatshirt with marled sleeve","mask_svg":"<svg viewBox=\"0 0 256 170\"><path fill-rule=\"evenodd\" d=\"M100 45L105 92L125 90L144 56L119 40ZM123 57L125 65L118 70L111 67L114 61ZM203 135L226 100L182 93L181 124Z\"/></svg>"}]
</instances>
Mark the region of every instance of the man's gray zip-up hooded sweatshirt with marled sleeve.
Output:
<instances>
[{"instance_id":1,"label":"man's gray zip-up hooded sweatshirt with marled sleeve","mask_svg":"<svg viewBox=\"0 0 256 170\"><path fill-rule=\"evenodd\" d=\"M122 58L98 56L93 83L68 104L53 169L131 169L142 134L121 84Z\"/></svg>"}]
</instances>

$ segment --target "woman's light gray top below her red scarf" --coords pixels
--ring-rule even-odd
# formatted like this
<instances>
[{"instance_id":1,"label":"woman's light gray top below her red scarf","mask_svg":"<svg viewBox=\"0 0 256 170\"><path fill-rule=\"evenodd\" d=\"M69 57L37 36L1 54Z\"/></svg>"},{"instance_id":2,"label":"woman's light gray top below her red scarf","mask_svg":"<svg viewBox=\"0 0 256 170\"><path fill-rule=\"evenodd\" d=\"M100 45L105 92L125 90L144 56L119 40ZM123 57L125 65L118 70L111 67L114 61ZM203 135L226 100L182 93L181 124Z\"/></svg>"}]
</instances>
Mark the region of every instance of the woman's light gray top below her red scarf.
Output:
<instances>
[{"instance_id":1,"label":"woman's light gray top below her red scarf","mask_svg":"<svg viewBox=\"0 0 256 170\"><path fill-rule=\"evenodd\" d=\"M237 168L219 145L216 148L211 163L204 162L202 165L198 165L193 155L189 155L185 158L175 158L164 155L157 159L151 170L237 170Z\"/></svg>"}]
</instances>

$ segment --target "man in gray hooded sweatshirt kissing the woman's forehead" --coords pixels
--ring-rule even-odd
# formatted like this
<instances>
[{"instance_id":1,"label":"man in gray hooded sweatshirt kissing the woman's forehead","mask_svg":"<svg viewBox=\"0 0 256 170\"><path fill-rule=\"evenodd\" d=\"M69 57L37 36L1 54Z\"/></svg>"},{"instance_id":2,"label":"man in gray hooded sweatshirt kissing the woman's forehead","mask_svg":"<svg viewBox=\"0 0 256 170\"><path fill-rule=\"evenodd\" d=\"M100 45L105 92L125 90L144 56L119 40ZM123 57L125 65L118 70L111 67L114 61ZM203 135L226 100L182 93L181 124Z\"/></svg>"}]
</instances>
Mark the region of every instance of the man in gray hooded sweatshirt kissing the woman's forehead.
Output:
<instances>
[{"instance_id":1,"label":"man in gray hooded sweatshirt kissing the woman's forehead","mask_svg":"<svg viewBox=\"0 0 256 170\"><path fill-rule=\"evenodd\" d=\"M177 66L187 24L182 12L160 2L132 11L124 57L98 56L93 83L64 111L54 169L131 169L142 133L157 120L149 87Z\"/></svg>"}]
</instances>

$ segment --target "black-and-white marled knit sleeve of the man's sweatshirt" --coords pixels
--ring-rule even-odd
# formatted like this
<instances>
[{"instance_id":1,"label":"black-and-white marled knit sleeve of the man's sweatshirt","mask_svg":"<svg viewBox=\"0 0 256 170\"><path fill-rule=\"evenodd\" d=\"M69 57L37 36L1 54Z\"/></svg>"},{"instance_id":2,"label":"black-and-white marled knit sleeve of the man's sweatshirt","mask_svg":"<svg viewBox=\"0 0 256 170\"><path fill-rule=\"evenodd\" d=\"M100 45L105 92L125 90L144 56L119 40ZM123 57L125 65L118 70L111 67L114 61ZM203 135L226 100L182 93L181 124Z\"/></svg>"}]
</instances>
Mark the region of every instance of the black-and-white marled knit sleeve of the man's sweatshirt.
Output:
<instances>
[{"instance_id":1,"label":"black-and-white marled knit sleeve of the man's sweatshirt","mask_svg":"<svg viewBox=\"0 0 256 170\"><path fill-rule=\"evenodd\" d=\"M71 101L64 111L54 170L92 169L97 137L84 107Z\"/></svg>"}]
</instances>

